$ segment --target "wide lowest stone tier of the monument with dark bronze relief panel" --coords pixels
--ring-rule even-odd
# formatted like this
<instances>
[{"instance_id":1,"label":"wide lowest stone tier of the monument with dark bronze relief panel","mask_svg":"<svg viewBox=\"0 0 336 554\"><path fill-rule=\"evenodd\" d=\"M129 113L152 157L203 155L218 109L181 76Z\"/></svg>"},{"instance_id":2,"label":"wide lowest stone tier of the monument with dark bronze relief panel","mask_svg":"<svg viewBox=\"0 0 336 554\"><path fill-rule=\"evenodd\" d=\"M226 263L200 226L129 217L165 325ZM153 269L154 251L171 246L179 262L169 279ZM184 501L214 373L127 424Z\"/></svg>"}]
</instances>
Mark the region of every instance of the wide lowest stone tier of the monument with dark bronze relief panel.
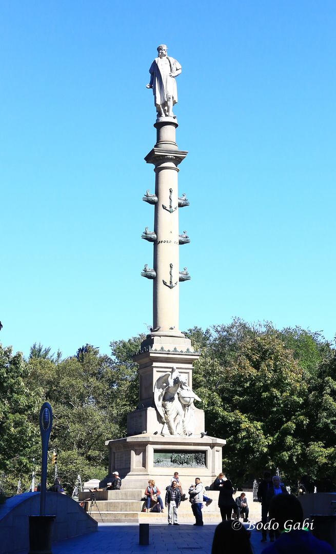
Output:
<instances>
[{"instance_id":1,"label":"wide lowest stone tier of the monument with dark bronze relief panel","mask_svg":"<svg viewBox=\"0 0 336 554\"><path fill-rule=\"evenodd\" d=\"M200 411L201 412L201 411ZM154 479L161 491L170 485L175 471L179 472L185 492L195 478L210 486L222 471L223 439L215 437L163 437L160 434L140 434L124 439L107 440L109 447L108 483L113 471L123 479L123 490L145 490L148 480Z\"/></svg>"}]
</instances>

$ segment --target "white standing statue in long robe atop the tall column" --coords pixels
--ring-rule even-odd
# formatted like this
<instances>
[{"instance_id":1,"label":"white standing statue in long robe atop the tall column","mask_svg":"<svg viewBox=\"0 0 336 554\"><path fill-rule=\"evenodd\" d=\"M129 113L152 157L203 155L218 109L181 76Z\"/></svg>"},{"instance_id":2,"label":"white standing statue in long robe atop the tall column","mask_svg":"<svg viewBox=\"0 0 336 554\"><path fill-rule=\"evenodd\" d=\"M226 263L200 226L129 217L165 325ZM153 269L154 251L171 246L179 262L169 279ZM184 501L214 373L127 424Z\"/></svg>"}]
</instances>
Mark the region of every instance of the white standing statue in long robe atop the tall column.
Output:
<instances>
[{"instance_id":1,"label":"white standing statue in long robe atop the tall column","mask_svg":"<svg viewBox=\"0 0 336 554\"><path fill-rule=\"evenodd\" d=\"M157 117L175 117L172 106L177 102L175 77L181 73L181 65L174 58L167 56L167 47L157 47L159 57L150 66L150 82L147 89L153 89Z\"/></svg>"}]
</instances>

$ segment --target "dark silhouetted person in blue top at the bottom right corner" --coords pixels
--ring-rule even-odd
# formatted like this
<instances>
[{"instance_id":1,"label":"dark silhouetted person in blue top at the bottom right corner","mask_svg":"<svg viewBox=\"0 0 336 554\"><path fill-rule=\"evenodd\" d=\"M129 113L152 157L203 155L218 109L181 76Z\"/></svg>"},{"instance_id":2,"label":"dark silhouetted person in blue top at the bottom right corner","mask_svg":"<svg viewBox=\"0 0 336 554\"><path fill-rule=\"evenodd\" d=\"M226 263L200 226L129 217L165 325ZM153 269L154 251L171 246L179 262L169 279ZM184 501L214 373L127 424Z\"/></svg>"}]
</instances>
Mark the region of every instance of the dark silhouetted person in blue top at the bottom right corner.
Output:
<instances>
[{"instance_id":1,"label":"dark silhouetted person in blue top at the bottom right corner","mask_svg":"<svg viewBox=\"0 0 336 554\"><path fill-rule=\"evenodd\" d=\"M279 525L281 533L273 545L262 551L263 554L333 554L334 549L327 542L319 541L303 529L301 502L291 494L278 494L269 505L269 520ZM295 529L293 529L295 527Z\"/></svg>"}]
</instances>

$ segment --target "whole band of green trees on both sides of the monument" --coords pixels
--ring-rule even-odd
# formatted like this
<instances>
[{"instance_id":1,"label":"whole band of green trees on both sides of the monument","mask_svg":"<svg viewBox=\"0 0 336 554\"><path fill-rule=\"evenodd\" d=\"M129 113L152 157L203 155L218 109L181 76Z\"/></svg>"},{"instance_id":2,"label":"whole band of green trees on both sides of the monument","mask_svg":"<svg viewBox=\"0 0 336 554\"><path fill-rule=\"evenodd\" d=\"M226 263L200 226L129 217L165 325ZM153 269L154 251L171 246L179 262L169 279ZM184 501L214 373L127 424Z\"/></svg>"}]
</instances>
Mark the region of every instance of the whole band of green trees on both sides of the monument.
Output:
<instances>
[{"instance_id":1,"label":"whole band of green trees on both sides of the monument","mask_svg":"<svg viewBox=\"0 0 336 554\"><path fill-rule=\"evenodd\" d=\"M277 330L271 322L185 332L201 352L193 388L205 410L208 434L227 440L223 471L236 483L279 469L287 484L336 490L336 350L321 332ZM139 375L131 356L144 336L110 343L110 355L86 344L74 356L50 354L34 343L28 360L0 345L0 472L6 492L17 481L27 490L33 457L39 475L38 414L50 402L49 442L68 493L77 475L103 478L105 440L126 435L127 414L139 398ZM2 479L3 481L3 479Z\"/></svg>"}]
</instances>

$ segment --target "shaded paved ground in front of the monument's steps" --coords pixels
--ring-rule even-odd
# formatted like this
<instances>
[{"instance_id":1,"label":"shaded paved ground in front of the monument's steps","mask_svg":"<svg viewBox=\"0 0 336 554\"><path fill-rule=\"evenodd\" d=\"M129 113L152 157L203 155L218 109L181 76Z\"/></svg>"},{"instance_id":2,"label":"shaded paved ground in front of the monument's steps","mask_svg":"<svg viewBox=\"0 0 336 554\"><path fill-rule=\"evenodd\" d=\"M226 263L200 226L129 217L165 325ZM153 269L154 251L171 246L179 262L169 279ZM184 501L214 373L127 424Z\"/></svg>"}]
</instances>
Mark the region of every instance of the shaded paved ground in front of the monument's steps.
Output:
<instances>
[{"instance_id":1,"label":"shaded paved ground in front of the monument's steps","mask_svg":"<svg viewBox=\"0 0 336 554\"><path fill-rule=\"evenodd\" d=\"M246 526L248 528L248 524ZM53 554L211 554L215 529L216 525L212 524L203 527L150 525L149 546L139 546L139 524L105 523L98 525L96 533L54 542L52 550ZM260 540L261 533L252 530L251 543L255 554L262 552L269 544ZM23 553L27 554L27 550L16 554Z\"/></svg>"}]
</instances>

